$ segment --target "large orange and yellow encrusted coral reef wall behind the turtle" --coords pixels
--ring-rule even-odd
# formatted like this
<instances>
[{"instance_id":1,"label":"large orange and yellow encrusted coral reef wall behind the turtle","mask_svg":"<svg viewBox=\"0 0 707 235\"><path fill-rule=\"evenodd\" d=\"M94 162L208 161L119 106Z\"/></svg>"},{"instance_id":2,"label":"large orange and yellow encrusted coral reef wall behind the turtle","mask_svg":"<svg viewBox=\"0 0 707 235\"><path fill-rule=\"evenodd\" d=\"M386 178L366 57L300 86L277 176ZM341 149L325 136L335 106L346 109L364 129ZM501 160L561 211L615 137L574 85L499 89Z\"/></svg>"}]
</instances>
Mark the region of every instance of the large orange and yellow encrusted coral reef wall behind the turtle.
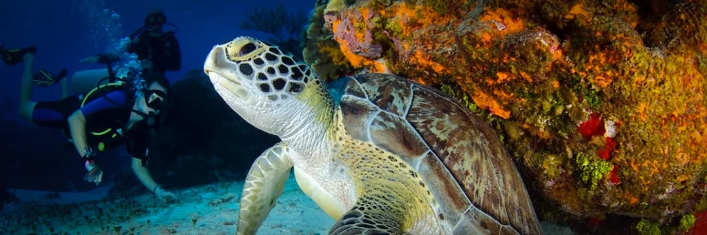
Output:
<instances>
[{"instance_id":1,"label":"large orange and yellow encrusted coral reef wall behind the turtle","mask_svg":"<svg viewBox=\"0 0 707 235\"><path fill-rule=\"evenodd\" d=\"M315 71L396 73L456 97L567 217L679 227L707 209L705 1L341 4L310 19Z\"/></svg>"}]
</instances>

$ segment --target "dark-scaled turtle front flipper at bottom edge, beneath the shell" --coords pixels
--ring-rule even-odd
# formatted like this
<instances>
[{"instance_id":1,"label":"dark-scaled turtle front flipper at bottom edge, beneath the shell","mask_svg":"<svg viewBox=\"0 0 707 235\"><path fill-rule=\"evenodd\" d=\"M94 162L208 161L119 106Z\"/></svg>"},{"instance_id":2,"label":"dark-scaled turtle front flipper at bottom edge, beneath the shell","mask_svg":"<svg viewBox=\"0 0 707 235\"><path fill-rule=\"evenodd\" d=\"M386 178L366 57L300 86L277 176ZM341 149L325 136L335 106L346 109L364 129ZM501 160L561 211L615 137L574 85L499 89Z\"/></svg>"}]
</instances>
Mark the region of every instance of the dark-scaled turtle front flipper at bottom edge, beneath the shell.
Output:
<instances>
[{"instance_id":1,"label":"dark-scaled turtle front flipper at bottom edge, beneath the shell","mask_svg":"<svg viewBox=\"0 0 707 235\"><path fill-rule=\"evenodd\" d=\"M409 235L402 231L402 223L385 210L380 199L363 197L329 229L329 235L386 234Z\"/></svg>"}]
</instances>

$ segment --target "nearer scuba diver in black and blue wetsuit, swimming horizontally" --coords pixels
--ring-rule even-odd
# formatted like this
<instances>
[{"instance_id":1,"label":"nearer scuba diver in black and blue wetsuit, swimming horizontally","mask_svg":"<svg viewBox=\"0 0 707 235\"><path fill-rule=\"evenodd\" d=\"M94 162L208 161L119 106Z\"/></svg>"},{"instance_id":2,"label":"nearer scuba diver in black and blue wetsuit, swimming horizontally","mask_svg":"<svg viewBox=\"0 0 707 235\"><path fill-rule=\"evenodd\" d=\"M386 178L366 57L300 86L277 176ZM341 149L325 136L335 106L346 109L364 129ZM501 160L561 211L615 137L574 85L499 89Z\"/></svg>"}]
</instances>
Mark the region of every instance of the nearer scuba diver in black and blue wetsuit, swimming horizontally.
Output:
<instances>
[{"instance_id":1,"label":"nearer scuba diver in black and blue wetsuit, swimming horizontally","mask_svg":"<svg viewBox=\"0 0 707 235\"><path fill-rule=\"evenodd\" d=\"M168 98L170 83L163 73L144 76L144 88L137 89L131 82L117 77L112 71L112 61L101 59L107 65L109 80L94 85L90 92L71 95L62 92L62 99L34 102L32 97L33 61L37 49L4 49L0 56L8 66L24 61L21 80L20 116L38 126L62 129L81 156L86 167L84 179L93 183L103 180L103 171L96 164L98 152L124 143L132 156L132 171L153 195L163 200L176 199L156 183L147 169L148 146L156 130L156 115ZM62 82L64 83L64 82ZM65 84L65 83L64 83Z\"/></svg>"}]
</instances>

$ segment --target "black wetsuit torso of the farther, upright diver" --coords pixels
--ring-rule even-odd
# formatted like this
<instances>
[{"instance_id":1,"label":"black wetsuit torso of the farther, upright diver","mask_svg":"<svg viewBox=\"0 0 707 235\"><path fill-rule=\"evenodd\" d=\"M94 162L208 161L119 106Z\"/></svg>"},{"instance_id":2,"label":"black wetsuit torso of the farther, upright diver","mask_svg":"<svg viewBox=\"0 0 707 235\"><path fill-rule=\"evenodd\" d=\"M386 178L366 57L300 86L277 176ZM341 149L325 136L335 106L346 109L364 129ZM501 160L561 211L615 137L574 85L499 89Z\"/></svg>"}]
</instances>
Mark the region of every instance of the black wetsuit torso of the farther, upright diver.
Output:
<instances>
[{"instance_id":1,"label":"black wetsuit torso of the farther, upright diver","mask_svg":"<svg viewBox=\"0 0 707 235\"><path fill-rule=\"evenodd\" d=\"M142 32L137 41L130 44L128 52L137 55L137 58L152 61L151 71L164 73L165 71L178 71L182 67L182 52L179 41L174 32L163 32L159 36Z\"/></svg>"}]
</instances>

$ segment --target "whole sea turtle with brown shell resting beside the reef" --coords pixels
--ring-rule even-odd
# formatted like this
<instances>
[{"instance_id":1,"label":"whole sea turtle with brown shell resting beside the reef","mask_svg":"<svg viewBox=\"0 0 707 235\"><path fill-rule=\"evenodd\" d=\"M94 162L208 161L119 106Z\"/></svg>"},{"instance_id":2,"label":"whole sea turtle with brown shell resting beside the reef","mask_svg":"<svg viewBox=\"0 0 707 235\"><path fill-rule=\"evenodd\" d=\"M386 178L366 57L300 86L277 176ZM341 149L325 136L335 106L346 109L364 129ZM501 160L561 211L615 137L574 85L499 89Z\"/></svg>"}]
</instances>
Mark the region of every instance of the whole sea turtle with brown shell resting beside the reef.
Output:
<instances>
[{"instance_id":1,"label":"whole sea turtle with brown shell resting beside the reef","mask_svg":"<svg viewBox=\"0 0 707 235\"><path fill-rule=\"evenodd\" d=\"M498 135L439 90L382 73L326 85L252 37L214 46L204 72L233 111L281 139L248 172L238 234L255 234L291 168L337 219L329 234L542 234Z\"/></svg>"}]
</instances>

